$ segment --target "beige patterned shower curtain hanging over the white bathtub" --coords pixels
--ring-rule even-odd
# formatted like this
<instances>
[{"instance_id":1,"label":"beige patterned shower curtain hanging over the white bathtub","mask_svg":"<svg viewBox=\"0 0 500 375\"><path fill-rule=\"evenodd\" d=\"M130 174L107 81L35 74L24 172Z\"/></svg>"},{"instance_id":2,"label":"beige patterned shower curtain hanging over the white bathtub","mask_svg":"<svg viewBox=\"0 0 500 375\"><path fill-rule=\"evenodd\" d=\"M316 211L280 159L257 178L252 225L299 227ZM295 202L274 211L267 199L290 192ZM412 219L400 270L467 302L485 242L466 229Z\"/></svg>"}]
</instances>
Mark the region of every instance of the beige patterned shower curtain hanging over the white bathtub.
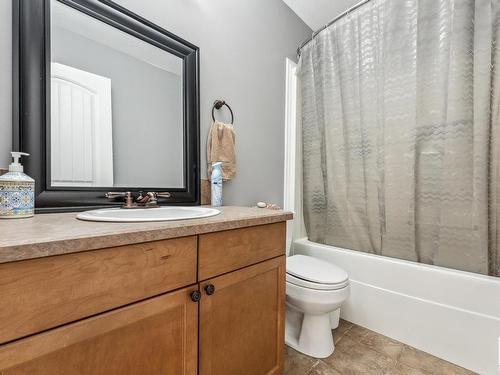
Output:
<instances>
[{"instance_id":1,"label":"beige patterned shower curtain hanging over the white bathtub","mask_svg":"<svg viewBox=\"0 0 500 375\"><path fill-rule=\"evenodd\" d=\"M302 49L312 241L499 275L499 3L371 0Z\"/></svg>"}]
</instances>

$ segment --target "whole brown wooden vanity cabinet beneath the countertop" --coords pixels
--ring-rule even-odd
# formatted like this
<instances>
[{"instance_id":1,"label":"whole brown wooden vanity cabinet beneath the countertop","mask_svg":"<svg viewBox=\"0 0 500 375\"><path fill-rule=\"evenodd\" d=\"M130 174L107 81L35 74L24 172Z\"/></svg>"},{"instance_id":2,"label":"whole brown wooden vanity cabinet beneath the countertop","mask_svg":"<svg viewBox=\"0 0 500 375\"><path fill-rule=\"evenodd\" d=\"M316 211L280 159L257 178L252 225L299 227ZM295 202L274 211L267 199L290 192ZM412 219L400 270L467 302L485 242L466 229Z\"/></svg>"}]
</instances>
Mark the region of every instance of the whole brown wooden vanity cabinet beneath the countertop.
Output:
<instances>
[{"instance_id":1,"label":"whole brown wooden vanity cabinet beneath the countertop","mask_svg":"<svg viewBox=\"0 0 500 375\"><path fill-rule=\"evenodd\" d=\"M280 222L1 264L0 374L281 374L284 253Z\"/></svg>"}]
</instances>

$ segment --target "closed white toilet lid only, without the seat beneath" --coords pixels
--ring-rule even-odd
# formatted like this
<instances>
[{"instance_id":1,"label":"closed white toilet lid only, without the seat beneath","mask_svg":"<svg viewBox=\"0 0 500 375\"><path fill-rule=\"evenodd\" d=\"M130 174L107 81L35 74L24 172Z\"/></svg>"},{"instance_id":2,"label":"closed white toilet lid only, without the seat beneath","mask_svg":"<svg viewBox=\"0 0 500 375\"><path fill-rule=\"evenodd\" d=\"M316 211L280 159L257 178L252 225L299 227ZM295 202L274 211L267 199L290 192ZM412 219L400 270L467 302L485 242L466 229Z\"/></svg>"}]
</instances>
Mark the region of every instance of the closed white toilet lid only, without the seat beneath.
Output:
<instances>
[{"instance_id":1,"label":"closed white toilet lid only, without the seat beneath","mask_svg":"<svg viewBox=\"0 0 500 375\"><path fill-rule=\"evenodd\" d=\"M340 284L349 277L347 272L327 261L307 255L292 255L286 260L286 272L319 284Z\"/></svg>"}]
</instances>

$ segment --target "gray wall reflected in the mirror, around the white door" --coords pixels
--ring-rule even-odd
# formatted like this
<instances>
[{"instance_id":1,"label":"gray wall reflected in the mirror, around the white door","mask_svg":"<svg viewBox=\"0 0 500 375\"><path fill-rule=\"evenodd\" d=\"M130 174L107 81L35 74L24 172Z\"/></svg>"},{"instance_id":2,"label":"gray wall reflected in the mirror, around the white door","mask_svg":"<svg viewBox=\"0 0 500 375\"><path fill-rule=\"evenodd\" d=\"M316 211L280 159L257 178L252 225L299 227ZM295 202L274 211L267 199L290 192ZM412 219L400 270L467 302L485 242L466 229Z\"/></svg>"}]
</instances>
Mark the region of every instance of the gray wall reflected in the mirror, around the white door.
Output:
<instances>
[{"instance_id":1,"label":"gray wall reflected in the mirror, around the white door","mask_svg":"<svg viewBox=\"0 0 500 375\"><path fill-rule=\"evenodd\" d=\"M182 77L58 27L51 53L111 79L114 186L183 187Z\"/></svg>"}]
</instances>

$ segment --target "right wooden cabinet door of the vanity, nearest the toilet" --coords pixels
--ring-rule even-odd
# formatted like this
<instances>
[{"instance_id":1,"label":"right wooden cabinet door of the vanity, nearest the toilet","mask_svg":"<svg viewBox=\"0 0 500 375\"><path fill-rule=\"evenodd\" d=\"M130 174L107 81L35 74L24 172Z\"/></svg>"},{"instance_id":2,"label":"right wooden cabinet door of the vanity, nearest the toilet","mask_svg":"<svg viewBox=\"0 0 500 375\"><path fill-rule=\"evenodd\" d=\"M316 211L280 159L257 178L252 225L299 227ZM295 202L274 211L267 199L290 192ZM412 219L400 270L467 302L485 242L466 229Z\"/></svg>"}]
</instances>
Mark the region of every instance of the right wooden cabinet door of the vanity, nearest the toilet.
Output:
<instances>
[{"instance_id":1,"label":"right wooden cabinet door of the vanity, nearest the toilet","mask_svg":"<svg viewBox=\"0 0 500 375\"><path fill-rule=\"evenodd\" d=\"M200 375L281 374L285 257L207 280L200 287Z\"/></svg>"}]
</instances>

